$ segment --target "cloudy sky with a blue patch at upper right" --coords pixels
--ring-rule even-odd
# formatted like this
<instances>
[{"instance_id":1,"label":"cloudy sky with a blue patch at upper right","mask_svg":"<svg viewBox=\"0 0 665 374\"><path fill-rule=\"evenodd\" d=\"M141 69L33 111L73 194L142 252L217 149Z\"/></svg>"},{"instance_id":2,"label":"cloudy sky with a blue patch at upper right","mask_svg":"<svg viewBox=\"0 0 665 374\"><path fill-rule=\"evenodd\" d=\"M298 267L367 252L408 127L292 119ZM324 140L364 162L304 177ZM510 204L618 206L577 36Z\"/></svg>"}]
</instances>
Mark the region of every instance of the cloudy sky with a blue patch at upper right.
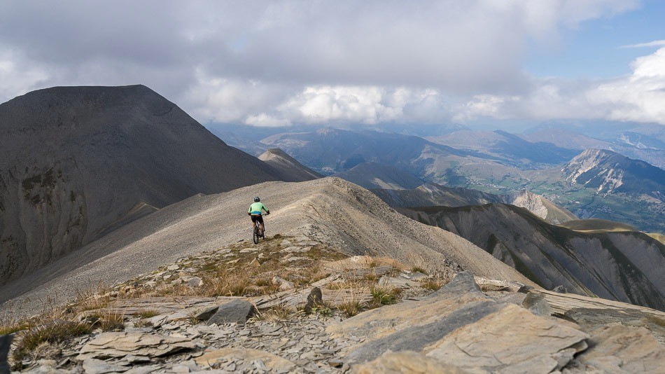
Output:
<instances>
[{"instance_id":1,"label":"cloudy sky with a blue patch at upper right","mask_svg":"<svg viewBox=\"0 0 665 374\"><path fill-rule=\"evenodd\" d=\"M665 1L0 0L0 102L142 83L203 124L665 125Z\"/></svg>"}]
</instances>

